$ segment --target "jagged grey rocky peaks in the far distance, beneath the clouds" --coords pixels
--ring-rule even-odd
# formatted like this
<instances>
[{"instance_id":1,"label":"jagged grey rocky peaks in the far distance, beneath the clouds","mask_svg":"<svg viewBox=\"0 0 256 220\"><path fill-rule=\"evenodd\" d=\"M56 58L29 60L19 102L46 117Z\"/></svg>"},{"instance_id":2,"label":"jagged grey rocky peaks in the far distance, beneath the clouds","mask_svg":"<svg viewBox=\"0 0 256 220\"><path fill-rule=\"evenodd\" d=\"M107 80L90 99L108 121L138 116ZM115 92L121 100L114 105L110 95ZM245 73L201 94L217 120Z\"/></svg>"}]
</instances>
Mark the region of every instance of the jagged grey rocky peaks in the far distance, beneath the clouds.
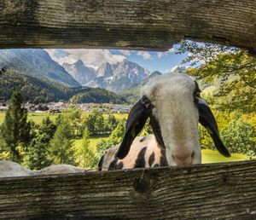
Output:
<instances>
[{"instance_id":1,"label":"jagged grey rocky peaks in the far distance, beneath the clouds","mask_svg":"<svg viewBox=\"0 0 256 220\"><path fill-rule=\"evenodd\" d=\"M63 63L62 66L79 84L93 88L100 87L114 92L120 92L140 84L150 74L148 69L127 60L115 64L106 62L97 70L86 67L81 60L73 64Z\"/></svg>"}]
</instances>

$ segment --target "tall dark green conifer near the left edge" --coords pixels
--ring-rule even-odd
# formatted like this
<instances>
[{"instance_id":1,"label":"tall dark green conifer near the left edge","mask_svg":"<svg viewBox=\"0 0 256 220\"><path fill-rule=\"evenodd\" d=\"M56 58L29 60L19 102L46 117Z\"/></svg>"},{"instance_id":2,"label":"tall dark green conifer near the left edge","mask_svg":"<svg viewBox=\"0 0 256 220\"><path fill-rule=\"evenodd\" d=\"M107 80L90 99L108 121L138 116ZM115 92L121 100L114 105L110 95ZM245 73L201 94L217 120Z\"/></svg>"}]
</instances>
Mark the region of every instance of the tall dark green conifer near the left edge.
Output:
<instances>
[{"instance_id":1,"label":"tall dark green conifer near the left edge","mask_svg":"<svg viewBox=\"0 0 256 220\"><path fill-rule=\"evenodd\" d=\"M31 139L31 124L27 122L27 112L22 103L20 92L15 91L1 126L3 148L9 152L9 159L18 163L22 161L21 153L26 151Z\"/></svg>"}]
</instances>

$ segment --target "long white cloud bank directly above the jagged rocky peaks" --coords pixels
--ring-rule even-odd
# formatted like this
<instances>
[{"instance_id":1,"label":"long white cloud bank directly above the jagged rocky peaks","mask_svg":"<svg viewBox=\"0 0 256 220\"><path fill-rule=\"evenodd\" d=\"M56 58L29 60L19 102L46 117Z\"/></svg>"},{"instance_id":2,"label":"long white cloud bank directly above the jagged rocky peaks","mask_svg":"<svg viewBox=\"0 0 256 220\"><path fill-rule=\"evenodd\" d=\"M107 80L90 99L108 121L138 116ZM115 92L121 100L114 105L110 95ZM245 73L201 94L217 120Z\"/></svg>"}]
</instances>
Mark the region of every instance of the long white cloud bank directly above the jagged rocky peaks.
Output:
<instances>
[{"instance_id":1,"label":"long white cloud bank directly above the jagged rocky peaks","mask_svg":"<svg viewBox=\"0 0 256 220\"><path fill-rule=\"evenodd\" d=\"M60 63L74 63L79 59L88 67L97 68L102 63L111 64L125 60L124 55L113 55L108 49L45 49L51 58ZM61 50L61 52L60 52ZM59 55L61 54L61 55Z\"/></svg>"}]
</instances>

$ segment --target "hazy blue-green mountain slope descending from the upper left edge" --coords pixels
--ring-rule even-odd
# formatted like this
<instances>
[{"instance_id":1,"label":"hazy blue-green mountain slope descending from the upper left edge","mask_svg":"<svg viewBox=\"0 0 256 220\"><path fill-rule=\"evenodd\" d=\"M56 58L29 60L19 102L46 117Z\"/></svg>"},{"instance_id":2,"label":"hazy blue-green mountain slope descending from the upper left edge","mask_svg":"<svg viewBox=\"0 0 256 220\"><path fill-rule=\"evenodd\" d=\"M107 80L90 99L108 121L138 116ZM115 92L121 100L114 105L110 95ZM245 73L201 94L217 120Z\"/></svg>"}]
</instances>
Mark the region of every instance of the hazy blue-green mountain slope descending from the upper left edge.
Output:
<instances>
[{"instance_id":1,"label":"hazy blue-green mountain slope descending from the upper left edge","mask_svg":"<svg viewBox=\"0 0 256 220\"><path fill-rule=\"evenodd\" d=\"M35 78L48 78L67 86L81 86L44 49L0 49L0 68L3 67Z\"/></svg>"}]
</instances>

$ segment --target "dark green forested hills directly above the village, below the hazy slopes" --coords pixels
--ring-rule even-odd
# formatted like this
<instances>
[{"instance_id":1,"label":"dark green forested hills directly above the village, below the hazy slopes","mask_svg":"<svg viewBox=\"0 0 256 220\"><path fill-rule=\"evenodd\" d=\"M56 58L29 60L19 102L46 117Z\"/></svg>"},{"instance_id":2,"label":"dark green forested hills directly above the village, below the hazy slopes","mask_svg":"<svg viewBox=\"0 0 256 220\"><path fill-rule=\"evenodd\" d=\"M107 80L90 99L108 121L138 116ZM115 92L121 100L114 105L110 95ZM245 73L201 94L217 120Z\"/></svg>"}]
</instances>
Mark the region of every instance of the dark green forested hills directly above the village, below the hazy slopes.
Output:
<instances>
[{"instance_id":1,"label":"dark green forested hills directly above the village, below the hazy slopes","mask_svg":"<svg viewBox=\"0 0 256 220\"><path fill-rule=\"evenodd\" d=\"M20 90L25 101L45 103L49 101L81 102L113 102L123 103L125 100L108 90L89 87L71 88L47 79L33 78L15 70L0 72L0 101L8 101L14 90Z\"/></svg>"}]
</instances>

